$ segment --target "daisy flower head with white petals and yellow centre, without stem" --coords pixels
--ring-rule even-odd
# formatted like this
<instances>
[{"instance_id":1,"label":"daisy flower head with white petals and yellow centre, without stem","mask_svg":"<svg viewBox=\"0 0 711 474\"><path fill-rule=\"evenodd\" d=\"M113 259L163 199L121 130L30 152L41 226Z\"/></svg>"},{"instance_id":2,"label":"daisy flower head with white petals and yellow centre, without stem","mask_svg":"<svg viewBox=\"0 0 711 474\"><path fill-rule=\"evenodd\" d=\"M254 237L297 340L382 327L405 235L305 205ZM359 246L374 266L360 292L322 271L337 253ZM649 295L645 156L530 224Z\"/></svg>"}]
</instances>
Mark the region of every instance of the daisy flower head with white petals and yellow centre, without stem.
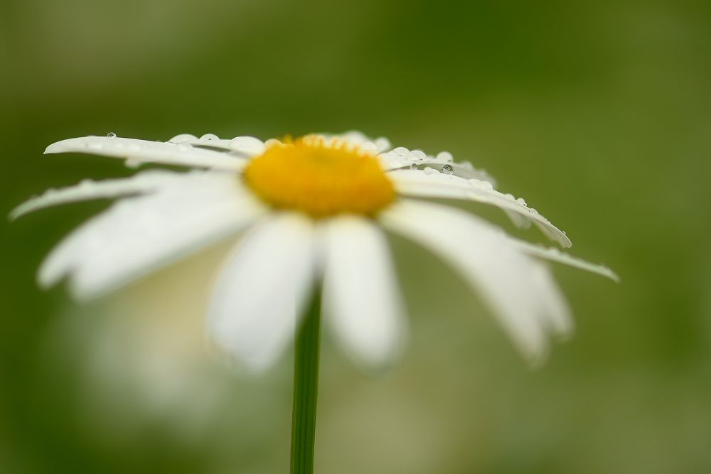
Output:
<instances>
[{"instance_id":1,"label":"daisy flower head with white petals and yellow centre, without stem","mask_svg":"<svg viewBox=\"0 0 711 474\"><path fill-rule=\"evenodd\" d=\"M386 139L357 132L266 143L249 136L183 134L161 143L109 134L46 150L63 152L193 169L82 181L18 206L11 217L73 201L117 200L50 252L38 274L41 286L67 277L76 298L94 298L240 234L215 284L209 328L223 348L257 369L292 339L321 283L326 324L356 362L377 366L397 357L407 324L385 231L412 239L458 271L532 360L545 354L548 333L572 328L545 261L616 279L604 266L510 237L471 212L428 203L494 205L515 225L533 223L570 247L565 232L525 201L500 193L485 172L447 152L392 149Z\"/></svg>"}]
</instances>

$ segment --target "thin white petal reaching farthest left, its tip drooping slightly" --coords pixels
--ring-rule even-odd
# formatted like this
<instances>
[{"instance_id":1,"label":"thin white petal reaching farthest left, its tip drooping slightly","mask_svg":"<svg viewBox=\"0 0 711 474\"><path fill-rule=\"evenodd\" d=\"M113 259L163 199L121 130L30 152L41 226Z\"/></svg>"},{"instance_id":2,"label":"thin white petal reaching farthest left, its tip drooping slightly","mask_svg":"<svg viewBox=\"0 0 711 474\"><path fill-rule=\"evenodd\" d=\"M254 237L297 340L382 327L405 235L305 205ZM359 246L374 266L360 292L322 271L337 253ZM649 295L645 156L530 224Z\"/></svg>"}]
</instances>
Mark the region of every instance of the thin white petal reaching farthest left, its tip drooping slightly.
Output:
<instances>
[{"instance_id":1,"label":"thin white petal reaching farthest left, its tip drooping slightly","mask_svg":"<svg viewBox=\"0 0 711 474\"><path fill-rule=\"evenodd\" d=\"M62 189L49 189L42 195L26 200L10 212L10 219L50 206L75 203L78 201L102 198L120 198L127 195L152 193L161 187L181 181L184 173L165 170L149 170L130 178L109 179L104 181L85 180L78 185Z\"/></svg>"}]
</instances>

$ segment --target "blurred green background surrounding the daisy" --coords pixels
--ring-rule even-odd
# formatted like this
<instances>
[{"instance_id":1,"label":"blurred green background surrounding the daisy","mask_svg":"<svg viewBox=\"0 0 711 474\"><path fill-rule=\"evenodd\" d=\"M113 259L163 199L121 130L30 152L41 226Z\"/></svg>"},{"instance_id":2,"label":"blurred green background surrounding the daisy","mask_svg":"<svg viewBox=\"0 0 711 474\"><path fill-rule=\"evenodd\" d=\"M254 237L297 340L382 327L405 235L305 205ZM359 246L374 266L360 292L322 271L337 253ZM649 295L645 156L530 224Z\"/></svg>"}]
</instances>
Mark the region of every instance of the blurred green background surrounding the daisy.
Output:
<instances>
[{"instance_id":1,"label":"blurred green background surrounding the daisy","mask_svg":"<svg viewBox=\"0 0 711 474\"><path fill-rule=\"evenodd\" d=\"M556 269L577 333L530 370L393 238L412 340L367 377L326 338L319 473L711 472L709 2L5 0L0 64L2 212L131 173L59 139L360 129L486 168L621 276ZM203 340L224 248L82 308L36 288L105 205L1 224L0 472L285 472L290 356L250 377Z\"/></svg>"}]
</instances>

